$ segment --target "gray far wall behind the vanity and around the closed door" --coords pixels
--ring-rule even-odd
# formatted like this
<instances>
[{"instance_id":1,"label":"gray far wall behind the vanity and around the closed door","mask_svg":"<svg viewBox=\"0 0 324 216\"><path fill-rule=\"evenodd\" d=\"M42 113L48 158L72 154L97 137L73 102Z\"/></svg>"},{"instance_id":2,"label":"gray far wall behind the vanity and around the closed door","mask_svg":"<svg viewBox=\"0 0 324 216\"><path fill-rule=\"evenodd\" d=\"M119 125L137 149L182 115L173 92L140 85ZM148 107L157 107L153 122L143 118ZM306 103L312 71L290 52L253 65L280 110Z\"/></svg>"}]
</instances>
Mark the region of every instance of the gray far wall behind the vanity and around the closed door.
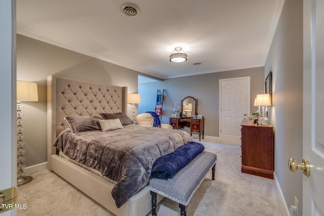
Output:
<instances>
[{"instance_id":1,"label":"gray far wall behind the vanity and around the closed door","mask_svg":"<svg viewBox=\"0 0 324 216\"><path fill-rule=\"evenodd\" d=\"M191 96L198 99L198 114L205 117L205 135L219 137L219 79L250 76L250 109L252 113L254 98L264 93L264 67L232 70L217 73L208 73L195 76L166 79L164 81L146 82L138 85L138 92L142 101L139 104L139 113L154 111L156 91L165 89L163 104L163 123L169 123L169 118L175 103Z\"/></svg>"}]
</instances>

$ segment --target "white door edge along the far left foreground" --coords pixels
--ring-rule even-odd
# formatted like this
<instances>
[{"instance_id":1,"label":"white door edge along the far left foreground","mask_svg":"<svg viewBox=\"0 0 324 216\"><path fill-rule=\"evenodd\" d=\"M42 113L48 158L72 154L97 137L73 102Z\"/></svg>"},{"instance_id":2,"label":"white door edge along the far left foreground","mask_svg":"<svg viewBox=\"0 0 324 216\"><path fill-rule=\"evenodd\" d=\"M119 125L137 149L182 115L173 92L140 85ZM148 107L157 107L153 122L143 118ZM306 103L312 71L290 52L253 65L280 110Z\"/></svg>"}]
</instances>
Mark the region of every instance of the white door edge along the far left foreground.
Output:
<instances>
[{"instance_id":1,"label":"white door edge along the far left foreground","mask_svg":"<svg viewBox=\"0 0 324 216\"><path fill-rule=\"evenodd\" d=\"M17 186L15 9L14 0L0 1L0 191Z\"/></svg>"}]
</instances>

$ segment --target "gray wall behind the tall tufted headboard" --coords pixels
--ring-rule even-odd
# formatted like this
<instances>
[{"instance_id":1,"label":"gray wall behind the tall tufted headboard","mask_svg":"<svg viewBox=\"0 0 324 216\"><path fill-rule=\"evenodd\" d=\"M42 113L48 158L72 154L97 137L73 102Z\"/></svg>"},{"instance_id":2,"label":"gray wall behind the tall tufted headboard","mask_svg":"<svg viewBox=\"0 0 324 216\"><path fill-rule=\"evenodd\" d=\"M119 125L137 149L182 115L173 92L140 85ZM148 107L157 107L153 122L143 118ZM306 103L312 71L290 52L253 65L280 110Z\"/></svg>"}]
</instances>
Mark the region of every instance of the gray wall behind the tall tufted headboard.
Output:
<instances>
[{"instance_id":1,"label":"gray wall behind the tall tufted headboard","mask_svg":"<svg viewBox=\"0 0 324 216\"><path fill-rule=\"evenodd\" d=\"M127 86L128 93L137 93L137 71L17 34L17 79L38 85L38 102L23 102L26 166L47 161L47 76L52 74Z\"/></svg>"}]
</instances>

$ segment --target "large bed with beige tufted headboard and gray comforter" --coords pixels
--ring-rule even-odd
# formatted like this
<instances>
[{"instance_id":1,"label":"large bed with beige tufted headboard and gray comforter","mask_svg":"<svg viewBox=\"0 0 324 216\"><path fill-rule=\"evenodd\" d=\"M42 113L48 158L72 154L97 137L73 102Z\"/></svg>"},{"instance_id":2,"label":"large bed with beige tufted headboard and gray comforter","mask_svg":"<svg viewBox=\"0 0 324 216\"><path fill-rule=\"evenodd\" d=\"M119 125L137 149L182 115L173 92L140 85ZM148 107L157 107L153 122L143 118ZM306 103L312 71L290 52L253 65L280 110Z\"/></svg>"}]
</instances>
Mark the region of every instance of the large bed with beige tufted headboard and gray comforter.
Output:
<instances>
[{"instance_id":1,"label":"large bed with beige tufted headboard and gray comforter","mask_svg":"<svg viewBox=\"0 0 324 216\"><path fill-rule=\"evenodd\" d=\"M80 191L83 191L116 215L146 215L151 210L151 196L146 186L150 165L156 157L174 151L177 147L192 141L190 135L179 130L145 127L134 124L125 124L123 125L124 128L107 132L97 130L73 134L73 128L64 119L66 116L100 116L103 113L108 113L108 115L127 113L127 87L49 76L47 92L49 171L54 171L67 182ZM60 139L62 140L62 136L64 137L63 140L65 140L65 143L68 144L76 137L74 136L75 134L77 134L77 137L82 137L82 139L90 139L90 137L100 137L106 133L109 137L108 140L116 141L114 144L111 144L112 142L110 143L109 141L109 145L105 142L105 145L109 146L109 149L119 149L120 146L125 146L127 149L127 151L124 149L126 153L123 153L123 160L120 160L126 164L124 164L125 166L120 165L119 169L122 170L120 174L116 174L116 171L105 172L106 169L103 169L101 166L99 169L96 169L98 162L94 162L92 163L94 164L92 167L88 167L84 165L85 160L83 159L73 161L66 157L69 155L69 151L66 149L70 147L65 147L64 149L63 144L58 144L59 149L62 150L62 152L59 152L53 146L53 143L56 143ZM164 135L162 136L161 133L164 133ZM152 137L154 139L156 137L158 142L154 144ZM179 137L182 138L182 141L179 141ZM93 142L94 140L91 141L91 143ZM130 146L127 146L127 143L130 143ZM83 146L83 144L79 145ZM134 158L136 152L129 152L129 149L137 149L139 148L138 146L144 145L148 145L145 148L148 149L149 157L135 156ZM93 146L97 146L97 144ZM138 150L137 153L139 154L139 152L141 151ZM114 158L117 157L116 155L113 155ZM106 156L103 158L106 158ZM148 158L148 161L142 160L143 158ZM111 160L108 159L108 161ZM111 166L111 164L107 164L108 167ZM133 174L136 174L136 172L134 170L129 172L135 179L141 179L142 181L135 184L134 188L132 188L132 184L127 185L127 182L133 181L134 178L130 178L131 181L124 178L124 176L131 175L124 172L124 170L130 169L130 166L128 167L127 164L137 164L138 166L134 166L137 166L138 172L142 175L141 178L135 178L136 175L134 177ZM145 168L143 169L140 166L144 166ZM118 168L115 168L115 170L118 170ZM108 175L102 176L102 174ZM129 191L129 193L127 194L125 191ZM118 197L118 194L121 194L123 197ZM158 197L158 201L162 198Z\"/></svg>"}]
</instances>

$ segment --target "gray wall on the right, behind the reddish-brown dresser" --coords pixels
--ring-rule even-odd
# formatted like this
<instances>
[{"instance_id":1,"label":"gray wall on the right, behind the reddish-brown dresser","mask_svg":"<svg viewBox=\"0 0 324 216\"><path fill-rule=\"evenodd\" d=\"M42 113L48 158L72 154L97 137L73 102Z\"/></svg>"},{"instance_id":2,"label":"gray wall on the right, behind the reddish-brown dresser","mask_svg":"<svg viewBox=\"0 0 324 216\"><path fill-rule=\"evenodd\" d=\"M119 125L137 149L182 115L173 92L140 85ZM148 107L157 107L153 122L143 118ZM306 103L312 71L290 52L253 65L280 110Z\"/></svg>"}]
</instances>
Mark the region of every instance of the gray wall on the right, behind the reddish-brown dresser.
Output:
<instances>
[{"instance_id":1,"label":"gray wall on the right, behind the reddish-brown dresser","mask_svg":"<svg viewBox=\"0 0 324 216\"><path fill-rule=\"evenodd\" d=\"M288 160L303 155L303 2L286 0L265 64L273 72L273 106L268 107L274 126L275 175L287 206L299 200L302 215L302 173L288 169Z\"/></svg>"}]
</instances>

